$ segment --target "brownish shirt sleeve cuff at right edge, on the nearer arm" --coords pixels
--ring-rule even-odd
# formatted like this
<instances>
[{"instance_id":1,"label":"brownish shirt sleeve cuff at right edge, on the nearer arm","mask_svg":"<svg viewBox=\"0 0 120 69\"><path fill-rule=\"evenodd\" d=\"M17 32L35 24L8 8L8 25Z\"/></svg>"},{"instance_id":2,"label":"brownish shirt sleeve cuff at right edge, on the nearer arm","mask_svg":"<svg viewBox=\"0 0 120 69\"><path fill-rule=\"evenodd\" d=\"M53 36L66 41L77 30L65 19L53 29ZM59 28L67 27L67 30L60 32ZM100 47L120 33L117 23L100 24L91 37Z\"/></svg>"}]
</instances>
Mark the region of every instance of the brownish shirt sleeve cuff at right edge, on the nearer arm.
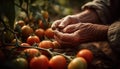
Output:
<instances>
[{"instance_id":1,"label":"brownish shirt sleeve cuff at right edge, on the nearer arm","mask_svg":"<svg viewBox=\"0 0 120 69\"><path fill-rule=\"evenodd\" d=\"M109 26L108 40L112 50L120 54L120 21L117 21Z\"/></svg>"}]
</instances>

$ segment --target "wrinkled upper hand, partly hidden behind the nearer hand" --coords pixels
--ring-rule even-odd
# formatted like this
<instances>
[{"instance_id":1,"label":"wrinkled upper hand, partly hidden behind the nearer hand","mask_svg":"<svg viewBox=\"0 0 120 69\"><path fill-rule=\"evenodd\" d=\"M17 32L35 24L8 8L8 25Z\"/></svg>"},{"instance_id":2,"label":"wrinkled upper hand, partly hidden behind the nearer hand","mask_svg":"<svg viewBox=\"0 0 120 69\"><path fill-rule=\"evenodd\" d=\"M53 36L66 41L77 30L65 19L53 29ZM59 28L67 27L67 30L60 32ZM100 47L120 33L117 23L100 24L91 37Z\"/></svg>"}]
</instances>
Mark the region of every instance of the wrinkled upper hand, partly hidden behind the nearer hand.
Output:
<instances>
[{"instance_id":1,"label":"wrinkled upper hand, partly hidden behind the nearer hand","mask_svg":"<svg viewBox=\"0 0 120 69\"><path fill-rule=\"evenodd\" d=\"M60 20L56 20L52 24L51 28L55 30L56 28L64 28L69 24L74 24L78 22L80 22L80 20L78 19L76 15L68 15Z\"/></svg>"}]
</instances>

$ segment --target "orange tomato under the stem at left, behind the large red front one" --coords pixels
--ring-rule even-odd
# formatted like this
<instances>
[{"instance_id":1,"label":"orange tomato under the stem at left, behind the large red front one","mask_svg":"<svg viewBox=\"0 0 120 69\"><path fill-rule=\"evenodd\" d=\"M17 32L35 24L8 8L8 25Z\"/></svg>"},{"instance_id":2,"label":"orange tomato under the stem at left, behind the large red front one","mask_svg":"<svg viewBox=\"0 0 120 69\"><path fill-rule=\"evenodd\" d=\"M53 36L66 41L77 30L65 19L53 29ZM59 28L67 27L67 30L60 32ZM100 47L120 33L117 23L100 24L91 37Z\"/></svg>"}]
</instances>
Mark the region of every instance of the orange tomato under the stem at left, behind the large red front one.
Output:
<instances>
[{"instance_id":1,"label":"orange tomato under the stem at left, behind the large red front one","mask_svg":"<svg viewBox=\"0 0 120 69\"><path fill-rule=\"evenodd\" d=\"M40 51L35 48L28 48L21 52L21 55L25 56L28 61L31 60L33 57L39 56L40 54Z\"/></svg>"}]
</instances>

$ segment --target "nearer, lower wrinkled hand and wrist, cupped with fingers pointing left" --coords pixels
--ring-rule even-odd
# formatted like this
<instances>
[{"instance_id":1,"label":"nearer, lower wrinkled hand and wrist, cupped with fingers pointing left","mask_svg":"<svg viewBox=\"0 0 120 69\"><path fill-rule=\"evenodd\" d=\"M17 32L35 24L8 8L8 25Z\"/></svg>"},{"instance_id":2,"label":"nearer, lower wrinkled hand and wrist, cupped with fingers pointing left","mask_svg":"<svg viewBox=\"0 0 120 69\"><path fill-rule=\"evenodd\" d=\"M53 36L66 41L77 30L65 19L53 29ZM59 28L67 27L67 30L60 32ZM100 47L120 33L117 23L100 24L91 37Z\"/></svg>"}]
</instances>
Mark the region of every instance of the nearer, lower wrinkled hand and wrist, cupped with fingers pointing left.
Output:
<instances>
[{"instance_id":1,"label":"nearer, lower wrinkled hand and wrist, cupped with fingers pointing left","mask_svg":"<svg viewBox=\"0 0 120 69\"><path fill-rule=\"evenodd\" d=\"M55 29L55 39L62 45L77 46L80 43L103 40L108 26L92 23L76 23L63 29Z\"/></svg>"}]
</instances>

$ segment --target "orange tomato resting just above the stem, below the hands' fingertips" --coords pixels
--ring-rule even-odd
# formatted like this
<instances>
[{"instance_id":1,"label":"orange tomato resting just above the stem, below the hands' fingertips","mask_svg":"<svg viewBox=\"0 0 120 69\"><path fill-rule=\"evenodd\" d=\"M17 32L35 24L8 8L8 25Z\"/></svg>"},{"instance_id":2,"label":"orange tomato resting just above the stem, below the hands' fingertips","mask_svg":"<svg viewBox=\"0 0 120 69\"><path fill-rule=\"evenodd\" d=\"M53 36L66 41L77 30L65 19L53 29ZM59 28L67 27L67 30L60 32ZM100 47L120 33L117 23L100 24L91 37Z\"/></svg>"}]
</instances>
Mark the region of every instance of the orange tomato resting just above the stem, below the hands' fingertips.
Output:
<instances>
[{"instance_id":1,"label":"orange tomato resting just above the stem, below the hands' fingertips","mask_svg":"<svg viewBox=\"0 0 120 69\"><path fill-rule=\"evenodd\" d=\"M39 43L38 47L48 49L48 48L54 48L54 45L50 40L43 40Z\"/></svg>"}]
</instances>

